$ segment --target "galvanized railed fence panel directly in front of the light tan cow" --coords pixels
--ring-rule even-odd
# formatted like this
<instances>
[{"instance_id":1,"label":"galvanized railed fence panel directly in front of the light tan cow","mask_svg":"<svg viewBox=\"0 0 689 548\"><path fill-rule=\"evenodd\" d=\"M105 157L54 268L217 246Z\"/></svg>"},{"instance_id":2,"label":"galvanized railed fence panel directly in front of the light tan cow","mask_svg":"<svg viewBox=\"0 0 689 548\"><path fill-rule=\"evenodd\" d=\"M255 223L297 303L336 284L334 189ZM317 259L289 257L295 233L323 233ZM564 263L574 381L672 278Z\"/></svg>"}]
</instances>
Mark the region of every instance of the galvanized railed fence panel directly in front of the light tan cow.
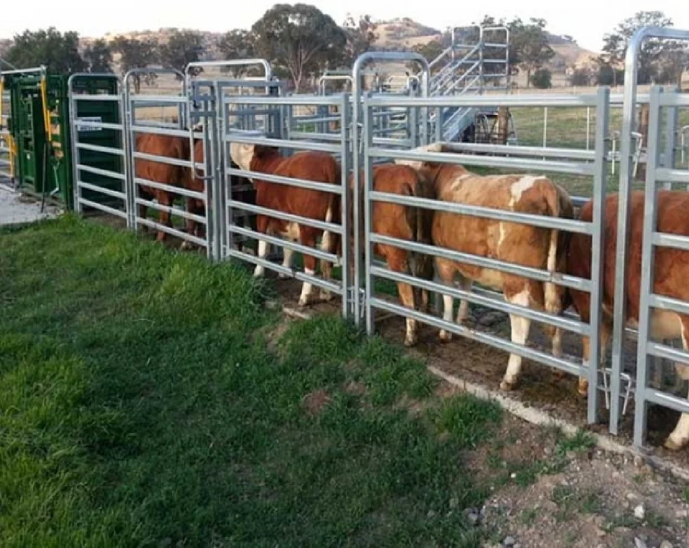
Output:
<instances>
[{"instance_id":1,"label":"galvanized railed fence panel directly in front of the light tan cow","mask_svg":"<svg viewBox=\"0 0 689 548\"><path fill-rule=\"evenodd\" d=\"M474 99L474 98L471 98ZM473 341L485 343L498 349L502 349L511 354L517 354L524 358L529 358L544 365L549 365L557 369L562 369L570 374L575 374L588 378L588 421L595 423L597 421L597 391L599 386L598 378L598 363L600 361L600 342L599 342L599 325L600 325L600 307L593 305L591 309L590 323L584 324L579 321L574 321L560 316L547 314L546 312L539 312L533 309L524 309L519 305L501 302L498 298L489 298L486 296L477 296L473 292L459 290L455 287L449 287L444 284L422 281L407 274L398 272L391 272L387 268L378 267L374 263L373 245L376 243L383 245L393 245L413 252L422 254L429 254L433 257L448 258L452 261L460 263L467 263L477 265L480 267L489 268L491 270L499 270L502 272L510 272L518 276L526 278L537 279L540 281L548 281L558 285L565 285L568 287L576 287L579 290L590 293L591 302L599 303L601 298L601 238L602 238L602 223L604 207L602 203L605 194L606 183L606 139L608 137L608 109L609 109L609 91L607 88L601 88L595 95L582 99L571 98L549 98L549 103L553 105L570 106L580 105L584 103L585 106L595 108L597 112L597 128L595 133L596 148L593 155L588 152L574 151L570 154L567 161L550 161L543 159L522 159L522 158L502 158L497 156L470 156L468 154L451 154L447 152L426 152L426 151L400 151L385 148L378 148L373 143L371 135L371 125L373 108L380 103L395 106L412 106L415 108L429 108L431 104L434 107L457 107L466 103L471 103L471 99L466 97L443 97L442 99L433 97L428 99L422 98L399 98L393 99L389 97L366 97L364 99L364 285L365 285L365 299L364 309L366 314L367 332L372 333L374 328L374 314L376 309L382 309L393 314L398 314L406 318L411 318L416 321L421 321L428 325L433 325L439 329L446 329L449 332L459 334ZM483 99L483 98L482 98ZM503 97L492 98L494 103L502 104ZM511 103L520 105L520 103L530 105L537 102L537 99L526 97L524 99L519 97L511 98ZM490 145L484 146L483 150L486 152L497 152L503 147L496 145L491 148ZM566 150L557 151L557 156L567 158ZM533 214L523 214L517 212L508 212L504 210L491 210L486 207L477 207L466 204L446 203L430 199L421 199L415 196L396 196L392 194L385 194L376 192L373 189L373 159L386 157L391 159L405 159L414 161L428 161L433 163L462 163L462 165L484 165L493 168L531 168L540 171L559 172L559 173L574 173L581 175L593 176L594 187L594 217L591 223L584 221L575 221L569 219L551 218L546 216L539 216ZM582 162L582 158L590 160L590 162ZM524 267L504 261L497 261L493 258L484 256L477 256L455 250L449 250L435 245L427 245L423 243L409 242L401 239L391 238L382 234L375 234L371 232L373 226L373 202L375 201L389 201L398 203L400 205L407 205L410 207L424 207L433 211L445 211L462 215L478 216L482 218L495 219L498 221L522 223L527 225L535 225L539 227L548 227L554 230L565 230L570 232L579 232L581 234L590 234L593 240L592 246L592 274L590 280L575 278L574 276L567 276L566 274L553 275L550 272L543 270ZM520 316L530 318L535 321L547 323L555 327L572 330L573 332L590 337L590 361L588 364L584 363L578 365L574 361L557 358L551 354L526 347L513 341L506 341L498 336L488 332L482 332L475 329L469 329L457 323L446 321L436 316L431 316L423 312L418 312L395 303L384 301L382 298L375 296L373 292L374 278L387 278L391 281L398 281L408 283L413 287L418 287L424 290L431 290L436 293L449 295L457 298L465 299L473 303L480 303L488 305L493 309L498 309L502 312L511 314L519 314Z\"/></svg>"}]
</instances>

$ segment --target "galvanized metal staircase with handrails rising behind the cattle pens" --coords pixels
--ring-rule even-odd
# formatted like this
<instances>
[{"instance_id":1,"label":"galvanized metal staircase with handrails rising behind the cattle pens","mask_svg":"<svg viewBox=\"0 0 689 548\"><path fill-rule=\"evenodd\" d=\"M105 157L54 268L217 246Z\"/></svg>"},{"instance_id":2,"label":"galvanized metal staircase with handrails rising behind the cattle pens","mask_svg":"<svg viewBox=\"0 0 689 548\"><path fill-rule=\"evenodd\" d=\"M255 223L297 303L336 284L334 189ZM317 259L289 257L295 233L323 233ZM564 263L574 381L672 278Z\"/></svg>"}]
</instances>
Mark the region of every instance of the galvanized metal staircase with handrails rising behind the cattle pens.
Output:
<instances>
[{"instance_id":1,"label":"galvanized metal staircase with handrails rising behind the cattle pens","mask_svg":"<svg viewBox=\"0 0 689 548\"><path fill-rule=\"evenodd\" d=\"M430 63L432 96L508 91L509 30L504 26L453 28L452 42ZM442 108L431 114L435 141L477 139L477 116L497 118L497 108Z\"/></svg>"}]
</instances>

